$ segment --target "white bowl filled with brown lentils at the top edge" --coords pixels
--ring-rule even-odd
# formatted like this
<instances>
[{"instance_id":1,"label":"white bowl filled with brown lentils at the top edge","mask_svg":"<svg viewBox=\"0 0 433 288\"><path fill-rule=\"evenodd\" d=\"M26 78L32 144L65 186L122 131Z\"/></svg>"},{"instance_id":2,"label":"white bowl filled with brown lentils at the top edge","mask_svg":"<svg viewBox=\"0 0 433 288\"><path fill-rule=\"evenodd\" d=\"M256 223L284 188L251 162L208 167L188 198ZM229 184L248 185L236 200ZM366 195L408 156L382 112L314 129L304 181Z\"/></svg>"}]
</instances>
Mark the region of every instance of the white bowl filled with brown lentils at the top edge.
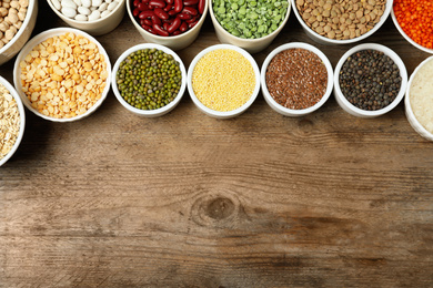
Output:
<instances>
[{"instance_id":1,"label":"white bowl filled with brown lentils at the top edge","mask_svg":"<svg viewBox=\"0 0 433 288\"><path fill-rule=\"evenodd\" d=\"M372 35L386 21L392 0L292 0L305 33L322 44L348 44Z\"/></svg>"}]
</instances>

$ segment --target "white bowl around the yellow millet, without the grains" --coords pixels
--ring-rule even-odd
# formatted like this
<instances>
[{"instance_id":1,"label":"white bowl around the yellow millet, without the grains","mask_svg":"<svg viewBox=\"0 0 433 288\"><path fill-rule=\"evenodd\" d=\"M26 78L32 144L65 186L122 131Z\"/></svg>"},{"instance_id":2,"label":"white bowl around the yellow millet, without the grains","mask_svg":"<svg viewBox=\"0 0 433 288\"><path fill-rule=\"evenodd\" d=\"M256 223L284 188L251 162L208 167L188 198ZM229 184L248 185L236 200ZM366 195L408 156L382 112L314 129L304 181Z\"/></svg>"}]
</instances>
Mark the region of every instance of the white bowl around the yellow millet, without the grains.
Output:
<instances>
[{"instance_id":1,"label":"white bowl around the yellow millet, without the grains","mask_svg":"<svg viewBox=\"0 0 433 288\"><path fill-rule=\"evenodd\" d=\"M226 111L226 112L215 111L215 110L212 110L212 109L205 106L197 97L197 95L194 93L194 90L192 88L192 74L194 72L197 63L200 61L200 59L202 56L204 56L209 52L214 51L214 50L219 50L219 49L231 49L231 50L240 52L251 63L251 65L252 65L252 68L254 70L254 74L255 74L255 86L254 86L254 90L253 90L253 93L252 93L251 97L242 106L240 106L240 107L238 107L235 110L232 110L232 111ZM254 102L254 100L256 99L256 96L259 94L259 91L260 91L260 70L259 70L259 66L258 66L255 60L244 49L235 47L235 45L231 45L231 44L216 44L216 45L208 47L207 49L202 50L199 54L195 55L195 58L192 60L192 62L191 62L191 64L190 64L190 66L188 69L188 92L189 92L189 94L191 96L191 100L195 104L197 107L199 107L203 113L205 113L205 114L208 114L209 116L212 116L212 117L230 119L230 117L234 117L234 116L238 116L238 115L242 114Z\"/></svg>"}]
</instances>

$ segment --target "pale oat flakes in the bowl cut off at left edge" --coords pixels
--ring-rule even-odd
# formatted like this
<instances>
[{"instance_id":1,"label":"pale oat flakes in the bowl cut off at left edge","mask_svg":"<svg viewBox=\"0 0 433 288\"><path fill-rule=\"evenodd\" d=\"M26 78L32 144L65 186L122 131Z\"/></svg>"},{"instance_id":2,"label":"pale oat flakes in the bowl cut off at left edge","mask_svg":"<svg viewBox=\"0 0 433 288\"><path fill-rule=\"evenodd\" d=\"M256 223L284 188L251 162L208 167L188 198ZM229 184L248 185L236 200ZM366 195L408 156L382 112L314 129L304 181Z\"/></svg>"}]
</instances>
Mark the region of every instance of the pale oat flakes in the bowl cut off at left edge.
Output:
<instances>
[{"instance_id":1,"label":"pale oat flakes in the bowl cut off at left edge","mask_svg":"<svg viewBox=\"0 0 433 288\"><path fill-rule=\"evenodd\" d=\"M20 112L13 96L0 83L0 160L13 147L20 132Z\"/></svg>"}]
</instances>

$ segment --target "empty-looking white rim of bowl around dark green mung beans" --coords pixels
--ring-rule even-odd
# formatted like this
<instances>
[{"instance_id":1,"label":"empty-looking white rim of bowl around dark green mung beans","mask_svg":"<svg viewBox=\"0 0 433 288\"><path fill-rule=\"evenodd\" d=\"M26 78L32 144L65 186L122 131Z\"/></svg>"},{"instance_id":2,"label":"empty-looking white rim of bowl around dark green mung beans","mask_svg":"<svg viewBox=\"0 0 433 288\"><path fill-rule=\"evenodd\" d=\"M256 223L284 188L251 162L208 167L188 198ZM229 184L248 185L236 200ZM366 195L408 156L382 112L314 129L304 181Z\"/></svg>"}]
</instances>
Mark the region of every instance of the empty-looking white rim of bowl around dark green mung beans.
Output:
<instances>
[{"instance_id":1,"label":"empty-looking white rim of bowl around dark green mung beans","mask_svg":"<svg viewBox=\"0 0 433 288\"><path fill-rule=\"evenodd\" d=\"M153 49L153 48L158 49L160 51L163 51L167 54L172 55L174 58L174 60L179 62L179 68L180 68L181 73L182 73L182 83L181 83L181 86L180 86L178 95L174 97L174 100L172 102L170 102L165 106L162 106L162 107L155 109L155 110L141 110L141 109L137 109L137 107L130 105L121 96L119 88L118 88L118 82L117 82L117 73L118 73L120 63L128 55L130 55L132 52L135 52L135 51L139 51L139 50L143 50L143 49ZM179 104L179 102L181 101L181 99L183 96L183 93L184 93L184 91L187 89L187 69L185 69L182 60L180 59L180 56L173 50L171 50L170 48L167 48L167 47L160 45L160 44L154 44L154 43L138 44L138 45L131 47L130 49L124 51L119 56L119 59L115 61L115 63L114 63L113 71L111 73L111 78L112 78L111 79L111 86L112 86L114 95L118 99L118 101L120 102L120 104L122 104L122 106L125 107L127 110L129 110L130 112L133 112L133 113L135 113L135 114L138 114L140 116L144 116L144 117L158 117L158 116L162 116L162 115L169 113L170 111L172 111Z\"/></svg>"}]
</instances>

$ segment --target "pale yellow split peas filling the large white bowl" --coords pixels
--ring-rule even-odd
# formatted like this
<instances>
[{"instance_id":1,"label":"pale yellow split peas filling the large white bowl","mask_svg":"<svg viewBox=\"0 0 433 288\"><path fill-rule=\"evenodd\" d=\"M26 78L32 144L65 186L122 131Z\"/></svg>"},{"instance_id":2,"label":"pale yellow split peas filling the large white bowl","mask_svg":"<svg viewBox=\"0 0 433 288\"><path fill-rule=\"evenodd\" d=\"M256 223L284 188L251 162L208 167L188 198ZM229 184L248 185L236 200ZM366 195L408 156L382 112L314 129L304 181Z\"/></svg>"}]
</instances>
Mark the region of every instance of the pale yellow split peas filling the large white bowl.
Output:
<instances>
[{"instance_id":1,"label":"pale yellow split peas filling the large white bowl","mask_svg":"<svg viewBox=\"0 0 433 288\"><path fill-rule=\"evenodd\" d=\"M32 107L56 119L85 113L101 97L108 78L98 45L72 32L36 45L20 69L22 91Z\"/></svg>"}]
</instances>

